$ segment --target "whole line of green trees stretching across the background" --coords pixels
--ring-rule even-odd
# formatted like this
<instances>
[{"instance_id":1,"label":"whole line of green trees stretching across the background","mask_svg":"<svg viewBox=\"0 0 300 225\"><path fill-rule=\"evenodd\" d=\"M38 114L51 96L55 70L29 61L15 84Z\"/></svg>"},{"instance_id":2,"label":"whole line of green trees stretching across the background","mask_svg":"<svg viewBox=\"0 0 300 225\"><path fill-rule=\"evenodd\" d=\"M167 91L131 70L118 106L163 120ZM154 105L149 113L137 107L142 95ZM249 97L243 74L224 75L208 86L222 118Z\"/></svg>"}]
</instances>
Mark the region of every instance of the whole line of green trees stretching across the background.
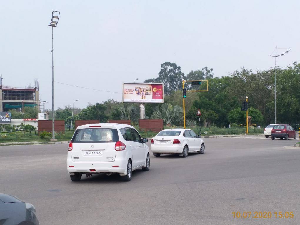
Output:
<instances>
[{"instance_id":1,"label":"whole line of green trees stretching across the background","mask_svg":"<svg viewBox=\"0 0 300 225\"><path fill-rule=\"evenodd\" d=\"M300 64L286 68L277 68L277 122L299 123L299 80ZM165 125L182 126L182 79L208 80L207 92L187 92L185 110L187 126L199 125L196 116L201 110L202 126L228 127L229 123L244 125L246 115L241 111L242 102L248 97L249 116L256 125L274 123L274 69L252 71L246 68L233 71L228 76L214 77L213 68L182 73L176 63L164 62L155 78L144 82L164 83L164 104L145 104L146 118L163 119ZM195 90L199 85L186 85L188 90ZM51 113L50 113L51 115ZM56 119L64 119L70 124L72 108L56 110ZM76 109L76 119L96 119L107 122L110 119L130 119L137 123L140 118L139 104L127 104L113 99L103 103L89 104L86 108Z\"/></svg>"}]
</instances>

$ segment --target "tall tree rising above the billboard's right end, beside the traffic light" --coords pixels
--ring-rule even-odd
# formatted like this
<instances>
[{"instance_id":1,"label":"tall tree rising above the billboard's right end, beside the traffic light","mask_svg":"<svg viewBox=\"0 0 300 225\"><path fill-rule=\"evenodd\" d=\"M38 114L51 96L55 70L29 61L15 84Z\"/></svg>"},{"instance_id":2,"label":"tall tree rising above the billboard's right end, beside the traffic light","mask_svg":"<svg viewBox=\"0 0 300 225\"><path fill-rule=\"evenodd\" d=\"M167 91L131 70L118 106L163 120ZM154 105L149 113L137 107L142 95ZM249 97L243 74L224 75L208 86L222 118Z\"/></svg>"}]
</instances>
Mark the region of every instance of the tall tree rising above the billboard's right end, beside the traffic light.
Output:
<instances>
[{"instance_id":1,"label":"tall tree rising above the billboard's right end, beside the traffic light","mask_svg":"<svg viewBox=\"0 0 300 225\"><path fill-rule=\"evenodd\" d=\"M161 64L158 77L146 79L144 82L164 83L164 93L169 95L172 91L182 89L182 79L184 79L184 73L181 72L180 66L176 63L164 62Z\"/></svg>"}]
</instances>

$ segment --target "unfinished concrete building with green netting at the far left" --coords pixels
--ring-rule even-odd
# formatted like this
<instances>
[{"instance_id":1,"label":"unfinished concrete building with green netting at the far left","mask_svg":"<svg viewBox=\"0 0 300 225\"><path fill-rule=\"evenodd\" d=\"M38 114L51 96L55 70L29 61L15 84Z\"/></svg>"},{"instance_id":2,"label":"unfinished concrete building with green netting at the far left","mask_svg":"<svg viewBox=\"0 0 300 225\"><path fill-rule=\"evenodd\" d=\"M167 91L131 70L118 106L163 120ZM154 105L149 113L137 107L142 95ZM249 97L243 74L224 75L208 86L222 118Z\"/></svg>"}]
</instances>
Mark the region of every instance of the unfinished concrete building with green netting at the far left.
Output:
<instances>
[{"instance_id":1,"label":"unfinished concrete building with green netting at the far left","mask_svg":"<svg viewBox=\"0 0 300 225\"><path fill-rule=\"evenodd\" d=\"M2 77L0 80L0 112L16 110L22 112L24 107L40 108L38 79L35 79L35 86L27 85L24 88L4 86Z\"/></svg>"}]
</instances>

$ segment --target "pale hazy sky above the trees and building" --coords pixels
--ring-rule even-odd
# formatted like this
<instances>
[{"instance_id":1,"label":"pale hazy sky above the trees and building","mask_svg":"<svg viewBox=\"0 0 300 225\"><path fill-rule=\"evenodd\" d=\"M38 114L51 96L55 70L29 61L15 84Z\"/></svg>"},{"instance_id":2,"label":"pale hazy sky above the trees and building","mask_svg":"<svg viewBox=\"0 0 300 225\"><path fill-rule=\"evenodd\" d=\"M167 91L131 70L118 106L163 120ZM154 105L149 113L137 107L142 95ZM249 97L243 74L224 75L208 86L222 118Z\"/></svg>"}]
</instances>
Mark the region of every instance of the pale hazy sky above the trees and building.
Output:
<instances>
[{"instance_id":1,"label":"pale hazy sky above the trees and building","mask_svg":"<svg viewBox=\"0 0 300 225\"><path fill-rule=\"evenodd\" d=\"M300 60L299 8L300 1L2 1L0 74L12 87L38 78L41 100L52 108L53 10L61 12L54 28L55 109L77 99L80 108L122 101L122 82L155 78L166 61L185 74L207 66L221 77L241 67L274 67L277 45L280 54L291 48L277 58L283 67Z\"/></svg>"}]
</instances>

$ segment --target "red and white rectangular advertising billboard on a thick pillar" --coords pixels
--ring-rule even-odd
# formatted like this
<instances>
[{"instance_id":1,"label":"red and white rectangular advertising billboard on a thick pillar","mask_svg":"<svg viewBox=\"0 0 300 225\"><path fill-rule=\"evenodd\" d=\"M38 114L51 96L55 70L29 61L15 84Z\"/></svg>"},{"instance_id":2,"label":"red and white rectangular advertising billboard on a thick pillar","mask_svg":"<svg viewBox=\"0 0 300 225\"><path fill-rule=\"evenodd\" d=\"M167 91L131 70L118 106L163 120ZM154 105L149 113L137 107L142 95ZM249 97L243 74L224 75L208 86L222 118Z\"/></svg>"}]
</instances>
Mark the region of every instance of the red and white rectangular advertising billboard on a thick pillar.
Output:
<instances>
[{"instance_id":1,"label":"red and white rectangular advertising billboard on a thick pillar","mask_svg":"<svg viewBox=\"0 0 300 225\"><path fill-rule=\"evenodd\" d=\"M123 82L122 102L164 103L164 84Z\"/></svg>"}]
</instances>

